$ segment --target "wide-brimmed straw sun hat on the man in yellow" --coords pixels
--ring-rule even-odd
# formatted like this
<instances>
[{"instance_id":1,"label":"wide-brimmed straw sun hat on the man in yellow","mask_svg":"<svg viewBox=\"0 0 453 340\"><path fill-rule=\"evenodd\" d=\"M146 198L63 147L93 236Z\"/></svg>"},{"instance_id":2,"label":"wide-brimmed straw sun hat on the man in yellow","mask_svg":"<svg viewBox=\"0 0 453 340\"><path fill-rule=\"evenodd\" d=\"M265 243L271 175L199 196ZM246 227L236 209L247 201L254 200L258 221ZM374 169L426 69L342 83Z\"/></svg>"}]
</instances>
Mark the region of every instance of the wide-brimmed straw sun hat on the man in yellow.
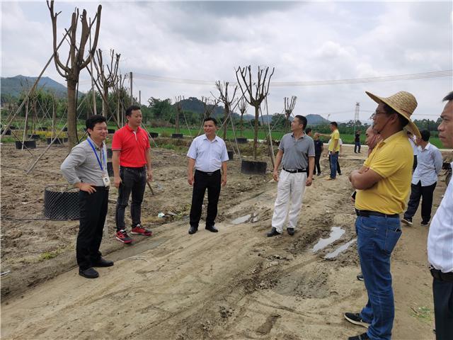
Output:
<instances>
[{"instance_id":1,"label":"wide-brimmed straw sun hat on the man in yellow","mask_svg":"<svg viewBox=\"0 0 453 340\"><path fill-rule=\"evenodd\" d=\"M376 103L384 103L393 108L397 113L402 115L404 118L408 120L408 125L406 125L406 130L413 133L413 135L421 138L420 131L418 131L417 125L413 123L411 120L411 115L415 108L417 107L417 101L415 97L406 92L406 91L399 91L396 94L393 94L389 97L379 97L375 94L371 94L368 91L365 93L372 98L373 101Z\"/></svg>"}]
</instances>

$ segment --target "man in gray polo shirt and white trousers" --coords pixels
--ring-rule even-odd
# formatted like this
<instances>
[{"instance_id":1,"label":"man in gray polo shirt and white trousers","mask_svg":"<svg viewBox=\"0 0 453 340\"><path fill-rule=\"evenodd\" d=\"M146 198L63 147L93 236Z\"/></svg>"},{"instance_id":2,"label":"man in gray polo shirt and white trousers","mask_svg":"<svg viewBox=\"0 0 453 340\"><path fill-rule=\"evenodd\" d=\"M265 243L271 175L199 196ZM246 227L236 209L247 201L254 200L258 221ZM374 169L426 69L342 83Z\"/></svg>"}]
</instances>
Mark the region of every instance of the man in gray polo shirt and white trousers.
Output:
<instances>
[{"instance_id":1,"label":"man in gray polo shirt and white trousers","mask_svg":"<svg viewBox=\"0 0 453 340\"><path fill-rule=\"evenodd\" d=\"M288 217L287 231L294 235L302 198L306 186L311 186L314 172L314 142L304 133L306 118L296 115L291 123L292 133L282 137L275 159L273 178L278 181L277 199L275 200L272 229L268 237L280 235ZM280 179L278 166L282 163ZM288 210L288 205L290 205Z\"/></svg>"}]
</instances>

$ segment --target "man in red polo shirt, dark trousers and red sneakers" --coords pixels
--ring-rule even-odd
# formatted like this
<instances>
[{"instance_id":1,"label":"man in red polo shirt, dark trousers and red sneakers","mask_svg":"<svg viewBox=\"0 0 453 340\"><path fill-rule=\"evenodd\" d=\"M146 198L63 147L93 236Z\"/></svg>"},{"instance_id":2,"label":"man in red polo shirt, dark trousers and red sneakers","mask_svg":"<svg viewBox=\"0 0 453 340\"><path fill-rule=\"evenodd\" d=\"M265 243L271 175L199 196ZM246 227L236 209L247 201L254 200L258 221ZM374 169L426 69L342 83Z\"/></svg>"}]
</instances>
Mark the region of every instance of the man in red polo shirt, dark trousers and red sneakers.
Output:
<instances>
[{"instance_id":1,"label":"man in red polo shirt, dark trousers and red sneakers","mask_svg":"<svg viewBox=\"0 0 453 340\"><path fill-rule=\"evenodd\" d=\"M115 212L116 239L123 243L132 242L125 226L125 209L132 193L130 215L132 234L151 236L152 232L142 226L142 200L147 181L152 180L151 154L147 132L140 128L142 111L139 106L126 110L127 125L115 132L112 141L112 165L118 199Z\"/></svg>"}]
</instances>

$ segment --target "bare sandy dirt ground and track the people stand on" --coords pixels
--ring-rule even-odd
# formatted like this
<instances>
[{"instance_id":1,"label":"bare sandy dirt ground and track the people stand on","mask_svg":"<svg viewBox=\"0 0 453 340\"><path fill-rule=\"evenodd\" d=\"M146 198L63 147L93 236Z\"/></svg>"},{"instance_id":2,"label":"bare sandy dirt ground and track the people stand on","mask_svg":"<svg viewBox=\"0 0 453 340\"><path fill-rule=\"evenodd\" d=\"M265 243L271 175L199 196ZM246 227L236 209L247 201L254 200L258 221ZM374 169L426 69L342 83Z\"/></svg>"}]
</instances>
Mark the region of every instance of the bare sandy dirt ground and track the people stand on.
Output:
<instances>
[{"instance_id":1,"label":"bare sandy dirt ground and track the people stand on","mask_svg":"<svg viewBox=\"0 0 453 340\"><path fill-rule=\"evenodd\" d=\"M348 174L365 154L344 148L340 164ZM44 186L64 183L57 165L66 153L51 149L25 176L20 169L30 166L31 157L3 146L2 215L41 217ZM345 175L324 180L327 159L323 175L306 190L299 230L273 238L265 237L276 195L270 174L240 174L239 160L230 162L220 232L200 228L188 235L184 154L154 149L154 162L156 195L147 190L143 211L154 235L134 237L132 246L115 241L111 203L101 250L115 266L100 268L96 280L81 278L74 268L77 221L2 219L1 271L11 271L1 277L3 339L345 339L365 331L343 319L343 312L360 311L367 295L355 278L360 268L352 190ZM440 181L434 210L444 192ZM110 196L115 199L114 190ZM176 216L156 217L169 211ZM394 339L433 339L428 228L419 223L416 215L413 227L403 227L392 258ZM344 234L313 251L331 227ZM338 256L324 258L348 243ZM56 256L42 259L43 253Z\"/></svg>"}]
</instances>

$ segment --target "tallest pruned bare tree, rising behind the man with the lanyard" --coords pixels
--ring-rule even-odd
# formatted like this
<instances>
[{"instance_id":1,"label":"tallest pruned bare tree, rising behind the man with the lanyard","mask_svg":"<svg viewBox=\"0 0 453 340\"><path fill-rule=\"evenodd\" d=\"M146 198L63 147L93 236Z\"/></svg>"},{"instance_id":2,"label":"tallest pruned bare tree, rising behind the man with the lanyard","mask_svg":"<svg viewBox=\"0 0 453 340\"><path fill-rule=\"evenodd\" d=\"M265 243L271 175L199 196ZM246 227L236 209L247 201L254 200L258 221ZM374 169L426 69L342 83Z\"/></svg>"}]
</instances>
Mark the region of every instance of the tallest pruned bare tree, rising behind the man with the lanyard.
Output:
<instances>
[{"instance_id":1,"label":"tallest pruned bare tree, rising behind the man with the lanyard","mask_svg":"<svg viewBox=\"0 0 453 340\"><path fill-rule=\"evenodd\" d=\"M54 61L57 72L66 79L67 81L67 93L68 93L68 108L67 108L67 127L68 127L68 139L69 148L74 147L77 144L77 124L76 124L76 89L79 83L79 74L82 69L88 66L91 58L96 51L98 45L99 28L101 27L101 10L102 6L98 6L95 20L88 24L86 17L86 10L82 11L79 16L79 8L76 8L72 13L71 27L67 31L68 42L69 42L69 53L66 63L62 63L57 52L57 16L59 13L54 11L54 1L47 0L47 7L50 11L50 18L52 19L52 33L53 33L53 50L54 50ZM79 46L76 45L76 31L77 24L81 21L81 35ZM85 45L88 38L91 35L91 28L96 22L96 29L93 38L93 45L91 49L88 49L88 55L85 56Z\"/></svg>"}]
</instances>

